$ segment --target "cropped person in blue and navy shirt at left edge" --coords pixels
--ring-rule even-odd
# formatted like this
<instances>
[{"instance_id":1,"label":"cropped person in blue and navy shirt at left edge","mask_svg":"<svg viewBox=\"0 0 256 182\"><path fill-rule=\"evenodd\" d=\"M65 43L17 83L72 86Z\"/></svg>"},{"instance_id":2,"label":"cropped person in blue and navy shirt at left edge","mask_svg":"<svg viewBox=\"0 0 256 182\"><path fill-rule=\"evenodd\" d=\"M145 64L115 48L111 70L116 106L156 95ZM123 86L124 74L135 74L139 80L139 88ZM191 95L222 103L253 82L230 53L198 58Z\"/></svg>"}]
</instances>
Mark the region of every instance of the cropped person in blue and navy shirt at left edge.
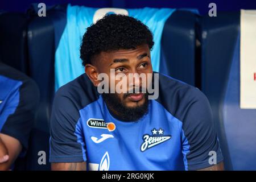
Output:
<instances>
[{"instance_id":1,"label":"cropped person in blue and navy shirt at left edge","mask_svg":"<svg viewBox=\"0 0 256 182\"><path fill-rule=\"evenodd\" d=\"M0 62L0 170L26 154L38 102L35 82Z\"/></svg>"}]
</instances>

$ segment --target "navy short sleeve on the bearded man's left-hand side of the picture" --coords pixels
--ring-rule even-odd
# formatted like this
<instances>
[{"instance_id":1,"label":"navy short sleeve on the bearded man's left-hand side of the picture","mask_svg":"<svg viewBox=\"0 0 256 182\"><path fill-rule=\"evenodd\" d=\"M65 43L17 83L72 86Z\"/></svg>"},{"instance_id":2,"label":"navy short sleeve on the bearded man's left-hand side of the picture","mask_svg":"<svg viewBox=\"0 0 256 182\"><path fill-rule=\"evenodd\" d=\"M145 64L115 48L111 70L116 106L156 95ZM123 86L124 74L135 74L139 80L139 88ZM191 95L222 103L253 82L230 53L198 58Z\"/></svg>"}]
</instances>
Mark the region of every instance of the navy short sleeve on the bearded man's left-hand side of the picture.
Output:
<instances>
[{"instance_id":1,"label":"navy short sleeve on the bearded man's left-hand side of the picture","mask_svg":"<svg viewBox=\"0 0 256 182\"><path fill-rule=\"evenodd\" d=\"M78 123L79 109L60 88L53 101L50 121L51 163L85 162L85 143Z\"/></svg>"}]
</instances>

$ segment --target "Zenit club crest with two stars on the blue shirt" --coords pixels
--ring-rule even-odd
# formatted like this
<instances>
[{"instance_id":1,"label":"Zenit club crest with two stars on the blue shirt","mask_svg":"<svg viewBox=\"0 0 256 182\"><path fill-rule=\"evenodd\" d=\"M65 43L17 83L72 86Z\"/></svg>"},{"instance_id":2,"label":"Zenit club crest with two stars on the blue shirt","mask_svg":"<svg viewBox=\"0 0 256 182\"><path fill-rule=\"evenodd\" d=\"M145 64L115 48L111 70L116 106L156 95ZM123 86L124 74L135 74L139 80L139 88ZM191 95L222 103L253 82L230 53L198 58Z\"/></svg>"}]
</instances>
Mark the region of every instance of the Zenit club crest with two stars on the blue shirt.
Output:
<instances>
[{"instance_id":1,"label":"Zenit club crest with two stars on the blue shirt","mask_svg":"<svg viewBox=\"0 0 256 182\"><path fill-rule=\"evenodd\" d=\"M141 145L141 151L144 152L148 148L154 147L160 143L166 142L167 140L171 139L171 135L163 135L164 130L153 129L151 130L152 135L145 134L143 135L142 139L144 142Z\"/></svg>"}]
</instances>

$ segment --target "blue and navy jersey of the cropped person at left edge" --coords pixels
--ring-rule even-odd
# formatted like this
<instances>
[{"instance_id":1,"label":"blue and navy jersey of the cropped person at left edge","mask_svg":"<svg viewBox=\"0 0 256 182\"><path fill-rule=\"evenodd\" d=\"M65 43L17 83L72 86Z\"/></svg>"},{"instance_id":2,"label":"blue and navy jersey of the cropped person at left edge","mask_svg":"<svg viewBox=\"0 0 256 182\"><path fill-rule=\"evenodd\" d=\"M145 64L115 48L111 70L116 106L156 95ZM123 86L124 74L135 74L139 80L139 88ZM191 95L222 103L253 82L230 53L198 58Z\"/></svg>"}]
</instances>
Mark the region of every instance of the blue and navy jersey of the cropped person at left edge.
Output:
<instances>
[{"instance_id":1,"label":"blue and navy jersey of the cropped person at left edge","mask_svg":"<svg viewBox=\"0 0 256 182\"><path fill-rule=\"evenodd\" d=\"M28 148L38 102L36 83L22 72L0 63L0 133L19 140L22 155Z\"/></svg>"}]
</instances>

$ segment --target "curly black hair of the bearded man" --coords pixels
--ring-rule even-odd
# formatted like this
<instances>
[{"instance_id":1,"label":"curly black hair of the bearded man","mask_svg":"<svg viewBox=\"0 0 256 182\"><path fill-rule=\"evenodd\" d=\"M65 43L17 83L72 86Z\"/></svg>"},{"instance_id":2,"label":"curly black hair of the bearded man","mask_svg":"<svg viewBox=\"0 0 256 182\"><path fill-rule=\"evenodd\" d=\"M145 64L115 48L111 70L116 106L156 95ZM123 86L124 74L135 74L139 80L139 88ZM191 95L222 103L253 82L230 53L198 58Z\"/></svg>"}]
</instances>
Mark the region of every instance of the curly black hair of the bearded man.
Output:
<instances>
[{"instance_id":1,"label":"curly black hair of the bearded man","mask_svg":"<svg viewBox=\"0 0 256 182\"><path fill-rule=\"evenodd\" d=\"M92 64L94 55L118 49L135 49L147 44L154 46L153 36L140 20L126 15L107 14L86 29L82 37L82 65Z\"/></svg>"}]
</instances>

